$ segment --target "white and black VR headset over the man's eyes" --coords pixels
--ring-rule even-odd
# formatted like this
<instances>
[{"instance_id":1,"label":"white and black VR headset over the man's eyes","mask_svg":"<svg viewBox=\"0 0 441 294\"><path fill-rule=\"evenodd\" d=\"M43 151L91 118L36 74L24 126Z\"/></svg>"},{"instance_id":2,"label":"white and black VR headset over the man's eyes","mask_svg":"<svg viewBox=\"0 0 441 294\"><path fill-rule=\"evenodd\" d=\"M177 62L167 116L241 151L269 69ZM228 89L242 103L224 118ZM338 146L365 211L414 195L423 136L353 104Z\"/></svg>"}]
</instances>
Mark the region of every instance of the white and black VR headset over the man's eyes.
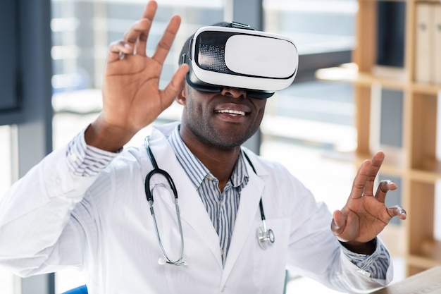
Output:
<instances>
[{"instance_id":1,"label":"white and black VR headset over the man's eyes","mask_svg":"<svg viewBox=\"0 0 441 294\"><path fill-rule=\"evenodd\" d=\"M190 66L186 80L196 90L237 87L247 90L249 97L266 99L291 85L299 55L285 36L230 23L230 27L199 28L180 63Z\"/></svg>"}]
</instances>

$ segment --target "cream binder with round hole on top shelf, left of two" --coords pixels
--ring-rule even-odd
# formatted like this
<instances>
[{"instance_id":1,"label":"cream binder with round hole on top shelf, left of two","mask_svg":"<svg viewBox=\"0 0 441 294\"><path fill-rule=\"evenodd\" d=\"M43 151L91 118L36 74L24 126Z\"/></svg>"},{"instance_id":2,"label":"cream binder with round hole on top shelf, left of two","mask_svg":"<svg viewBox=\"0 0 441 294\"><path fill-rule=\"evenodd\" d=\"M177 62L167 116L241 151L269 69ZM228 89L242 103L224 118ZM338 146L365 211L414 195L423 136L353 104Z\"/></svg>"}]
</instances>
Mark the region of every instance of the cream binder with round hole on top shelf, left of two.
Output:
<instances>
[{"instance_id":1,"label":"cream binder with round hole on top shelf, left of two","mask_svg":"<svg viewBox=\"0 0 441 294\"><path fill-rule=\"evenodd\" d=\"M429 3L416 4L416 56L415 56L415 80L416 82L430 83L433 79L431 44L431 31L433 30L433 13Z\"/></svg>"}]
</instances>

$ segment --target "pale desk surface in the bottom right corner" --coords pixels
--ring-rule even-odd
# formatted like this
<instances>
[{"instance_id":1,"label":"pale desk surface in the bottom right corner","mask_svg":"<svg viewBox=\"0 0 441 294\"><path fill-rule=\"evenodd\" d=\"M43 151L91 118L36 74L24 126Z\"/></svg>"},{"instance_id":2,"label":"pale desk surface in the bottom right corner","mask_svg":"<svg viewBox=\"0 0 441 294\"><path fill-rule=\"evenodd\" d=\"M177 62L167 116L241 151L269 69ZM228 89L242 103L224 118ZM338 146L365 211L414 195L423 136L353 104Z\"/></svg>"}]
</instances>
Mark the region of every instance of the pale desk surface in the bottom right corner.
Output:
<instances>
[{"instance_id":1,"label":"pale desk surface in the bottom right corner","mask_svg":"<svg viewBox=\"0 0 441 294\"><path fill-rule=\"evenodd\" d=\"M441 294L441 266L421 271L371 294Z\"/></svg>"}]
</instances>

